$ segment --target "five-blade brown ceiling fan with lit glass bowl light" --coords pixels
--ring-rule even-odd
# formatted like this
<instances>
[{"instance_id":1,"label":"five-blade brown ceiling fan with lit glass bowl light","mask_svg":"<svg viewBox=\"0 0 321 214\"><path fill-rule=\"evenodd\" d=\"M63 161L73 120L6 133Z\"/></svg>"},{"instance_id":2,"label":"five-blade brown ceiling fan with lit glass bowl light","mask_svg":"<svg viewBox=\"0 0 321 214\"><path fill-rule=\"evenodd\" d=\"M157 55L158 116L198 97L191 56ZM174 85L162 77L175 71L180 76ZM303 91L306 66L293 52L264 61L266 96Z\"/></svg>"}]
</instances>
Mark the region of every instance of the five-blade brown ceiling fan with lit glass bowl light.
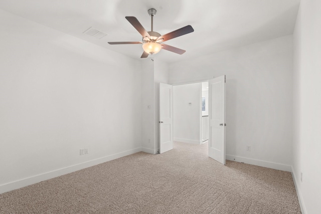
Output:
<instances>
[{"instance_id":1,"label":"five-blade brown ceiling fan with lit glass bowl light","mask_svg":"<svg viewBox=\"0 0 321 214\"><path fill-rule=\"evenodd\" d=\"M108 42L110 45L124 45L124 44L143 44L142 48L144 52L142 53L140 58L146 58L149 54L157 54L161 49L165 49L167 51L171 51L177 54L184 54L186 51L175 48L170 45L163 44L163 42L174 39L176 37L183 36L185 34L189 34L194 32L192 26L188 25L183 28L180 28L171 33L165 34L161 36L161 34L153 31L153 17L156 15L155 9L149 9L148 14L151 17L151 31L146 31L142 25L138 22L135 17L125 17L126 20L139 32L142 36L142 42Z\"/></svg>"}]
</instances>

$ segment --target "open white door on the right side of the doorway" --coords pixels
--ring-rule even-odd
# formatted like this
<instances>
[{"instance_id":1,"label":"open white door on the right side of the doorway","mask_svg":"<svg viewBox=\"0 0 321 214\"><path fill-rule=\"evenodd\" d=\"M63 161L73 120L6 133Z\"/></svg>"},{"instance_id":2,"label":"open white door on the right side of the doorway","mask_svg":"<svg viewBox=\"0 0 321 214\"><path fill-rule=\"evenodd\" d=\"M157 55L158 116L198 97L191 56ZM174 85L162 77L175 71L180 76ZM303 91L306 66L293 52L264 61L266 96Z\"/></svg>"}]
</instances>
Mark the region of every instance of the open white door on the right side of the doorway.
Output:
<instances>
[{"instance_id":1,"label":"open white door on the right side of the doorway","mask_svg":"<svg viewBox=\"0 0 321 214\"><path fill-rule=\"evenodd\" d=\"M209 80L209 157L225 165L225 75Z\"/></svg>"}]
</instances>

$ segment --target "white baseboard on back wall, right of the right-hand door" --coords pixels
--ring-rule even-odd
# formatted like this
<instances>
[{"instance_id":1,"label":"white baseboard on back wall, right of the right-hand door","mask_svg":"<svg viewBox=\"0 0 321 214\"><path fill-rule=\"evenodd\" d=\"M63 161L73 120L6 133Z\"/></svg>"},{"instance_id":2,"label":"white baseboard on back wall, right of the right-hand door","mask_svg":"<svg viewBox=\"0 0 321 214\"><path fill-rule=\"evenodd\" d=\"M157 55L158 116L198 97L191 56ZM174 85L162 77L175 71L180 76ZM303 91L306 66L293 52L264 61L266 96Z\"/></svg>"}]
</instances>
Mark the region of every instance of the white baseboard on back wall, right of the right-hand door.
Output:
<instances>
[{"instance_id":1,"label":"white baseboard on back wall, right of the right-hand door","mask_svg":"<svg viewBox=\"0 0 321 214\"><path fill-rule=\"evenodd\" d=\"M237 162L242 162L242 163L248 163L256 166L263 166L267 168L272 168L272 169L278 169L282 171L292 171L292 168L290 165L285 165L281 163L274 163L274 162L269 162L269 161L263 161L263 160L257 160L257 159L251 159L247 157L239 157L239 156L234 156L227 154L226 155L227 160L232 160L232 161L237 161Z\"/></svg>"}]
</instances>

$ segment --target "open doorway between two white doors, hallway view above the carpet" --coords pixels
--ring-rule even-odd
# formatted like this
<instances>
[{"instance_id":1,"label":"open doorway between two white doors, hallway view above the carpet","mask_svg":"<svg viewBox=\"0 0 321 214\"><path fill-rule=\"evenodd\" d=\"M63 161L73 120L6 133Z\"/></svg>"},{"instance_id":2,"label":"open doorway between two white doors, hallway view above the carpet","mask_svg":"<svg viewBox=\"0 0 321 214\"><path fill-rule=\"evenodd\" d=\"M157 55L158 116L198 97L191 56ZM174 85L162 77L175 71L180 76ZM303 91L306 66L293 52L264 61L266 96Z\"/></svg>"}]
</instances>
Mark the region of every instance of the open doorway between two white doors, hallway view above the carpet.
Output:
<instances>
[{"instance_id":1,"label":"open doorway between two white doors, hallway view above the carpet","mask_svg":"<svg viewBox=\"0 0 321 214\"><path fill-rule=\"evenodd\" d=\"M173 86L174 141L208 140L208 82Z\"/></svg>"}]
</instances>

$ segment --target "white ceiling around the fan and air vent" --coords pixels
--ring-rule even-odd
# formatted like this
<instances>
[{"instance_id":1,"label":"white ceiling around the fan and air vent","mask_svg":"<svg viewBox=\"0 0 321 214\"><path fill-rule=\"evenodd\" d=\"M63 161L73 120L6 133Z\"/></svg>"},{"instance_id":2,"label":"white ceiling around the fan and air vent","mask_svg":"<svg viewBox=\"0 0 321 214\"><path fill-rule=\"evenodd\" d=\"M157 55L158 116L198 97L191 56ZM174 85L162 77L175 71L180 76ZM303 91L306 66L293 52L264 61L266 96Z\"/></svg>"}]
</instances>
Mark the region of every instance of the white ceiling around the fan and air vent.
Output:
<instances>
[{"instance_id":1,"label":"white ceiling around the fan and air vent","mask_svg":"<svg viewBox=\"0 0 321 214\"><path fill-rule=\"evenodd\" d=\"M150 31L147 10L154 8L153 30L161 35L187 25L195 30L165 42L185 54L154 55L168 63L292 34L298 6L299 0L0 0L5 11L139 60L145 60L141 45L107 42L141 41L125 16ZM99 40L83 34L90 27L108 35Z\"/></svg>"}]
</instances>

